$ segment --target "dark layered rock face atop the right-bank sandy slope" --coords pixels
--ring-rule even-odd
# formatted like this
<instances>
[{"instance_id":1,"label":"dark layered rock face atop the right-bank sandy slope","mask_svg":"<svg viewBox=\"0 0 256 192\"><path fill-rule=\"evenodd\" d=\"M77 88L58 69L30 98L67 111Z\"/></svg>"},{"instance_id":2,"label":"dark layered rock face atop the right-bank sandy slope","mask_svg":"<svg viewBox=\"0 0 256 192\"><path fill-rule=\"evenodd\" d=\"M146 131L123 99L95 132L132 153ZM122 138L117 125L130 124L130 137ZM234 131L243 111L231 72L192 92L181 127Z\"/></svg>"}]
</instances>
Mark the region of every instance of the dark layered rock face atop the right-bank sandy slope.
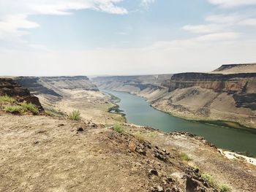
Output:
<instances>
[{"instance_id":1,"label":"dark layered rock face atop the right-bank sandy slope","mask_svg":"<svg viewBox=\"0 0 256 192\"><path fill-rule=\"evenodd\" d=\"M200 87L216 93L228 93L233 96L236 107L256 110L256 73L241 74L174 74L170 80L162 82L169 92L176 89Z\"/></svg>"}]
</instances>

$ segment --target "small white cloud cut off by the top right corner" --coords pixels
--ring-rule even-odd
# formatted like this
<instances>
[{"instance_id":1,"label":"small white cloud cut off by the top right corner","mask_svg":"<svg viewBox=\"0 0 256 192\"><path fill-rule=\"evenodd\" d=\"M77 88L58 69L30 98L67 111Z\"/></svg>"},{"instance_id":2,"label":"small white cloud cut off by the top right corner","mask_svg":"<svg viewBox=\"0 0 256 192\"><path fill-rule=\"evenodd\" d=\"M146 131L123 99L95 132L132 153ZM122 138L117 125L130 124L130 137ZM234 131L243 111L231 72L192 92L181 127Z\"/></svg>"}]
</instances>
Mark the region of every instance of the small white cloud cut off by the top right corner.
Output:
<instances>
[{"instance_id":1,"label":"small white cloud cut off by the top right corner","mask_svg":"<svg viewBox=\"0 0 256 192\"><path fill-rule=\"evenodd\" d=\"M256 0L208 0L208 1L211 4L216 4L224 8L256 5Z\"/></svg>"}]
</instances>

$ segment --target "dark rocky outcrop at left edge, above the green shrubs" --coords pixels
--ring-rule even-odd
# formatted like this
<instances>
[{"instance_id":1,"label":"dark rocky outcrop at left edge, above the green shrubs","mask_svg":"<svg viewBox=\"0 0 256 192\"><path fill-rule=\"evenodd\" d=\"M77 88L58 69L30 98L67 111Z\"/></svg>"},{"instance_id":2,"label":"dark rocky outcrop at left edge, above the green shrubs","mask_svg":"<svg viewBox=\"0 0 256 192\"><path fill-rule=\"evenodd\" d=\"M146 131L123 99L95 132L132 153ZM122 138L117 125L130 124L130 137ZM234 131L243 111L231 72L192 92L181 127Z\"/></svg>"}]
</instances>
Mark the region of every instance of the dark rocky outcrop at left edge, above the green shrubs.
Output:
<instances>
[{"instance_id":1,"label":"dark rocky outcrop at left edge, above the green shrubs","mask_svg":"<svg viewBox=\"0 0 256 192\"><path fill-rule=\"evenodd\" d=\"M18 85L15 81L9 78L0 78L0 95L12 96L17 101L35 104L39 111L43 111L42 105L36 96L31 96L31 93L27 88Z\"/></svg>"}]
</instances>

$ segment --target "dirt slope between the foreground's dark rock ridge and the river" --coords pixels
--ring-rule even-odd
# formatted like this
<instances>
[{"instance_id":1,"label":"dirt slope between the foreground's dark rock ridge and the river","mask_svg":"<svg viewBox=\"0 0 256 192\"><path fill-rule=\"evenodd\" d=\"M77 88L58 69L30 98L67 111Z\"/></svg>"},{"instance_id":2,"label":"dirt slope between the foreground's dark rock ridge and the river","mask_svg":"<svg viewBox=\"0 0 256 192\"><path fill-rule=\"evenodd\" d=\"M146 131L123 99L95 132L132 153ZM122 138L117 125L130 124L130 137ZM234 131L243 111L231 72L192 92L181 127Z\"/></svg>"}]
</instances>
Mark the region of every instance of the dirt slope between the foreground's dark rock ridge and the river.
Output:
<instances>
[{"instance_id":1,"label":"dirt slope between the foreground's dark rock ridge and the river","mask_svg":"<svg viewBox=\"0 0 256 192\"><path fill-rule=\"evenodd\" d=\"M153 145L169 151L186 153L191 160L190 166L200 169L201 174L210 174L217 185L226 184L232 191L256 191L256 166L245 161L230 160L211 147L206 140L190 134L163 134L138 128L140 134Z\"/></svg>"}]
</instances>

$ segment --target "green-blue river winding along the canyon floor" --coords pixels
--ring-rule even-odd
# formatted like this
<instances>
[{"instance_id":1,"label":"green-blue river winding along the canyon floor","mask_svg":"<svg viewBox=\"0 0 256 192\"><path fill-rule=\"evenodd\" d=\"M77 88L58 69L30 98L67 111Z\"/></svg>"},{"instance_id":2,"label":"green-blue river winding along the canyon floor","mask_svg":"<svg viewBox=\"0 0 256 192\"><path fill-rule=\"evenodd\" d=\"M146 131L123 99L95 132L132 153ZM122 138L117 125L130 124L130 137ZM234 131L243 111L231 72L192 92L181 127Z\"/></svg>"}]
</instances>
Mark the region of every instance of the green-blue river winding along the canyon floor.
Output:
<instances>
[{"instance_id":1,"label":"green-blue river winding along the canyon floor","mask_svg":"<svg viewBox=\"0 0 256 192\"><path fill-rule=\"evenodd\" d=\"M176 118L165 112L155 110L145 99L139 96L126 92L104 91L121 99L118 102L119 110L123 111L128 123L151 126L164 132L187 131L206 138L219 148L256 156L255 129L229 128Z\"/></svg>"}]
</instances>

